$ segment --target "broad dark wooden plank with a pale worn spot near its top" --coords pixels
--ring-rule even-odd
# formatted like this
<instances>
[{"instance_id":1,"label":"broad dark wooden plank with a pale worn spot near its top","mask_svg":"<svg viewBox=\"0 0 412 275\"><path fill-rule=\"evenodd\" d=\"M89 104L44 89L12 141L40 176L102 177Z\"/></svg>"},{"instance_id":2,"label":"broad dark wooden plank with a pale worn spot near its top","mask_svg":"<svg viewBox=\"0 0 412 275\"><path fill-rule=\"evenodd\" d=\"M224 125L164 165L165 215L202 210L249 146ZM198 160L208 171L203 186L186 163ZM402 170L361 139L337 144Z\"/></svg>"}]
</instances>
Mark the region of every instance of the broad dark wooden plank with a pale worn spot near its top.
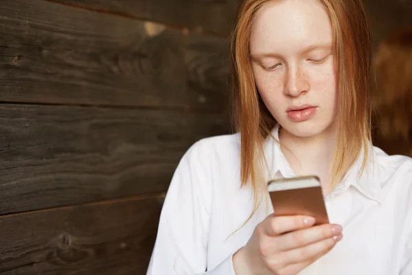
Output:
<instances>
[{"instance_id":1,"label":"broad dark wooden plank with a pale worn spot near its top","mask_svg":"<svg viewBox=\"0 0 412 275\"><path fill-rule=\"evenodd\" d=\"M6 102L222 111L225 40L48 1L0 1Z\"/></svg>"}]
</instances>

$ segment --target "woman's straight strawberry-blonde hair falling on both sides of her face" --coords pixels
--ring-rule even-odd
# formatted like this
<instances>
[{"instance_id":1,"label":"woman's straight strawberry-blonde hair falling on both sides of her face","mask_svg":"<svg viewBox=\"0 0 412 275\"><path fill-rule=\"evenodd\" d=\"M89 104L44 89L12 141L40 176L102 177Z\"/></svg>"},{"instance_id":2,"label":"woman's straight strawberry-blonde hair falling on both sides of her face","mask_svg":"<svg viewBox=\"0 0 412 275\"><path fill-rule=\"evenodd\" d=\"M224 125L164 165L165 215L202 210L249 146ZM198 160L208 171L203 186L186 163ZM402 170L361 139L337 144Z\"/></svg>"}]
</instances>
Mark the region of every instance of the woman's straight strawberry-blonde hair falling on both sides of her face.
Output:
<instances>
[{"instance_id":1,"label":"woman's straight strawberry-blonde hair falling on both sides of her face","mask_svg":"<svg viewBox=\"0 0 412 275\"><path fill-rule=\"evenodd\" d=\"M241 133L242 186L251 184L253 212L262 200L259 190L266 188L263 144L277 124L262 102L249 60L249 39L253 21L267 3L279 0L244 0L231 44L233 125ZM319 0L332 23L335 66L338 72L338 137L331 167L331 186L341 181L347 170L371 140L369 104L370 36L361 0ZM367 151L363 159L363 168ZM361 169L361 173L362 173ZM249 221L248 219L248 221ZM247 222L247 221L246 221Z\"/></svg>"}]
</instances>

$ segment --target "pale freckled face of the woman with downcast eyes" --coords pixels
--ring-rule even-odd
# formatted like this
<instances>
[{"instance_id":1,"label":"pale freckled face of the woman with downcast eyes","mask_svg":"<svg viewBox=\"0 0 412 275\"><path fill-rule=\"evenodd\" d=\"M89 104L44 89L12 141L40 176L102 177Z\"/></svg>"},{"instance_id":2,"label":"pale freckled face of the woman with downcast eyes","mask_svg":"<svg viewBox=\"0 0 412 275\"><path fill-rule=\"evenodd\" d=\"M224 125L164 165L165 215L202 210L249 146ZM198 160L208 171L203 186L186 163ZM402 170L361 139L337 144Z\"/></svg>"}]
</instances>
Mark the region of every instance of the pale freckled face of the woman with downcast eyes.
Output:
<instances>
[{"instance_id":1,"label":"pale freckled face of the woman with downcast eyes","mask_svg":"<svg viewBox=\"0 0 412 275\"><path fill-rule=\"evenodd\" d=\"M256 87L283 129L311 137L335 128L332 26L319 1L264 6L253 24L250 54Z\"/></svg>"}]
</instances>

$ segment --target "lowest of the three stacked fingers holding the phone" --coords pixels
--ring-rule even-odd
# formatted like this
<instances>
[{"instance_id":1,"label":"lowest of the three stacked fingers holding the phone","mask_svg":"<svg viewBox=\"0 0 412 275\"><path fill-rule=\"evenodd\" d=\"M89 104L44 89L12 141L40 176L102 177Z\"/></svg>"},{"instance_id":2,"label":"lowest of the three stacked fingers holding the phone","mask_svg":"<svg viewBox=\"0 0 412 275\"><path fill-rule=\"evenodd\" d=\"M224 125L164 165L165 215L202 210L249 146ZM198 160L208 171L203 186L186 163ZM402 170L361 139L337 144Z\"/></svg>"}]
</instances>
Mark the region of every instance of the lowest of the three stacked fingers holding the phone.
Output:
<instances>
[{"instance_id":1,"label":"lowest of the three stacked fingers holding the phone","mask_svg":"<svg viewBox=\"0 0 412 275\"><path fill-rule=\"evenodd\" d=\"M295 263L303 263L314 259L315 261L319 259L324 254L328 253L334 245L341 241L342 234L339 236L325 239L323 241L318 241L317 243L312 243L306 245L303 248L296 248L294 250L288 250L278 254L279 259L283 259L284 265L293 265Z\"/></svg>"}]
</instances>

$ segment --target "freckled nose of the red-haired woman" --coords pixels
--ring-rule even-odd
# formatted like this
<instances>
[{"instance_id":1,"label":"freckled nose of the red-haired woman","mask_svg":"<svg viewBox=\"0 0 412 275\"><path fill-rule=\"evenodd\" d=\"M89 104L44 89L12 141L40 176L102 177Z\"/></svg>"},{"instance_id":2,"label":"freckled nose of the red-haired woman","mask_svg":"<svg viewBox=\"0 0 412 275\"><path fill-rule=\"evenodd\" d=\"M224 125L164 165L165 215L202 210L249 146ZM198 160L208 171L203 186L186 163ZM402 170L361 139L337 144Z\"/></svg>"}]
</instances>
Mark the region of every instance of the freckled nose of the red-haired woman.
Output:
<instances>
[{"instance_id":1,"label":"freckled nose of the red-haired woman","mask_svg":"<svg viewBox=\"0 0 412 275\"><path fill-rule=\"evenodd\" d=\"M297 97L309 91L307 74L299 66L289 66L286 72L284 94Z\"/></svg>"}]
</instances>

